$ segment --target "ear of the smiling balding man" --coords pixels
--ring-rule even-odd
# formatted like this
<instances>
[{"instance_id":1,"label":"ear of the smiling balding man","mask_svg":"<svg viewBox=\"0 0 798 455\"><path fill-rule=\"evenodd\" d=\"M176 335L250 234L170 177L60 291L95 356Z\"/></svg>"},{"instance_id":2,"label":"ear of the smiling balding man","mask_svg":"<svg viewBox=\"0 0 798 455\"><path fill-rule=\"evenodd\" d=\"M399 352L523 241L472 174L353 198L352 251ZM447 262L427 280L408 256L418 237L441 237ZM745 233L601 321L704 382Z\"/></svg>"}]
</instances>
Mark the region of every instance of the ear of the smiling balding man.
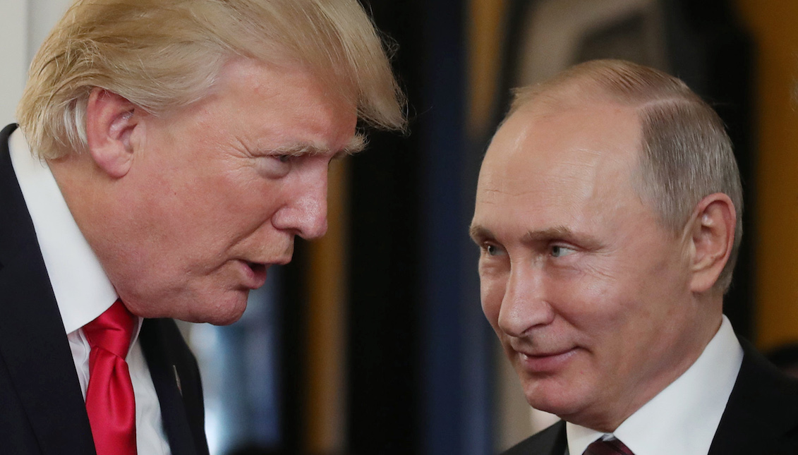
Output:
<instances>
[{"instance_id":1,"label":"ear of the smiling balding man","mask_svg":"<svg viewBox=\"0 0 798 455\"><path fill-rule=\"evenodd\" d=\"M723 193L706 196L693 211L688 225L690 242L690 290L709 291L729 261L734 244L737 212Z\"/></svg>"}]
</instances>

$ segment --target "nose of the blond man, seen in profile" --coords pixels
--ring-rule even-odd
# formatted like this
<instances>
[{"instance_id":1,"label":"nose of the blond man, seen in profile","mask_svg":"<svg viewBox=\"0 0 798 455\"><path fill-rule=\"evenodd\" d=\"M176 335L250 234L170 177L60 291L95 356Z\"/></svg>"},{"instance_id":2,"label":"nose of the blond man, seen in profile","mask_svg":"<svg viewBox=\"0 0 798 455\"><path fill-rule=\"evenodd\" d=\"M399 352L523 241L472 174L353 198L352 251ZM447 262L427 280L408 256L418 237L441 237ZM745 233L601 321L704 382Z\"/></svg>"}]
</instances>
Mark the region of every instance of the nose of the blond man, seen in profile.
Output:
<instances>
[{"instance_id":1,"label":"nose of the blond man, seen in profile","mask_svg":"<svg viewBox=\"0 0 798 455\"><path fill-rule=\"evenodd\" d=\"M327 169L307 172L291 188L287 201L272 218L275 228L303 239L318 239L327 231Z\"/></svg>"}]
</instances>

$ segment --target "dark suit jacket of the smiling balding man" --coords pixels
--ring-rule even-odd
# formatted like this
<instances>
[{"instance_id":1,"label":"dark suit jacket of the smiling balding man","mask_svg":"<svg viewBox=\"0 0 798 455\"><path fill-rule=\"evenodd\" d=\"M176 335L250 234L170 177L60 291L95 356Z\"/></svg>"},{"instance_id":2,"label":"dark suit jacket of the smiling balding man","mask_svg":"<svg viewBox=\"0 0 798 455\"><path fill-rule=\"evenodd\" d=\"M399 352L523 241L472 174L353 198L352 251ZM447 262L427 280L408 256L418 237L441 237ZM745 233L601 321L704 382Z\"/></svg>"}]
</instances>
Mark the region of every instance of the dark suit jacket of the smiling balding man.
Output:
<instances>
[{"instance_id":1,"label":"dark suit jacket of the smiling balding man","mask_svg":"<svg viewBox=\"0 0 798 455\"><path fill-rule=\"evenodd\" d=\"M798 382L776 370L748 342L709 455L798 454ZM563 455L565 422L520 442L504 455ZM571 455L582 455L571 453Z\"/></svg>"}]
</instances>

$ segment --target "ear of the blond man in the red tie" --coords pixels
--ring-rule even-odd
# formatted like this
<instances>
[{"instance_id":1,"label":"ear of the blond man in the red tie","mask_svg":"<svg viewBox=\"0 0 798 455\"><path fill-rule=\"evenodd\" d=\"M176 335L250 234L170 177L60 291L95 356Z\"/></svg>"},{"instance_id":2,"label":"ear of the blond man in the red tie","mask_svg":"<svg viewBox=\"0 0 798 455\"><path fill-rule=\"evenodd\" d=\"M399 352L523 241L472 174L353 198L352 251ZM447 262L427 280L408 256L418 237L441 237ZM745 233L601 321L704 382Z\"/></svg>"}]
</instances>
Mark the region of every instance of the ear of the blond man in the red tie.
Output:
<instances>
[{"instance_id":1,"label":"ear of the blond man in the red tie","mask_svg":"<svg viewBox=\"0 0 798 455\"><path fill-rule=\"evenodd\" d=\"M117 93L94 88L86 105L89 154L113 178L127 174L132 164L130 135L136 127L136 106Z\"/></svg>"}]
</instances>

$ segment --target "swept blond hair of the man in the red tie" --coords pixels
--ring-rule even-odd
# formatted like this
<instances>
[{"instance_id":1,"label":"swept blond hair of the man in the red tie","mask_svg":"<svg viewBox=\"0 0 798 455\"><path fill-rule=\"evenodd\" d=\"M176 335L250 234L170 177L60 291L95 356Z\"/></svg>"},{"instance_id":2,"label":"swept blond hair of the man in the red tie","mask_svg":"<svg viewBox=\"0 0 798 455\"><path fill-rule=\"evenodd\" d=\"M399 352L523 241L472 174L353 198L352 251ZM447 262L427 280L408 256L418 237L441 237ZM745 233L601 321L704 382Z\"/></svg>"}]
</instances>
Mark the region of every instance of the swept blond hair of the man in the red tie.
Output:
<instances>
[{"instance_id":1,"label":"swept blond hair of the man in the red tie","mask_svg":"<svg viewBox=\"0 0 798 455\"><path fill-rule=\"evenodd\" d=\"M17 118L39 156L80 152L92 89L165 113L207 95L232 57L306 65L357 100L361 121L405 128L405 98L356 0L76 0L34 57Z\"/></svg>"}]
</instances>

